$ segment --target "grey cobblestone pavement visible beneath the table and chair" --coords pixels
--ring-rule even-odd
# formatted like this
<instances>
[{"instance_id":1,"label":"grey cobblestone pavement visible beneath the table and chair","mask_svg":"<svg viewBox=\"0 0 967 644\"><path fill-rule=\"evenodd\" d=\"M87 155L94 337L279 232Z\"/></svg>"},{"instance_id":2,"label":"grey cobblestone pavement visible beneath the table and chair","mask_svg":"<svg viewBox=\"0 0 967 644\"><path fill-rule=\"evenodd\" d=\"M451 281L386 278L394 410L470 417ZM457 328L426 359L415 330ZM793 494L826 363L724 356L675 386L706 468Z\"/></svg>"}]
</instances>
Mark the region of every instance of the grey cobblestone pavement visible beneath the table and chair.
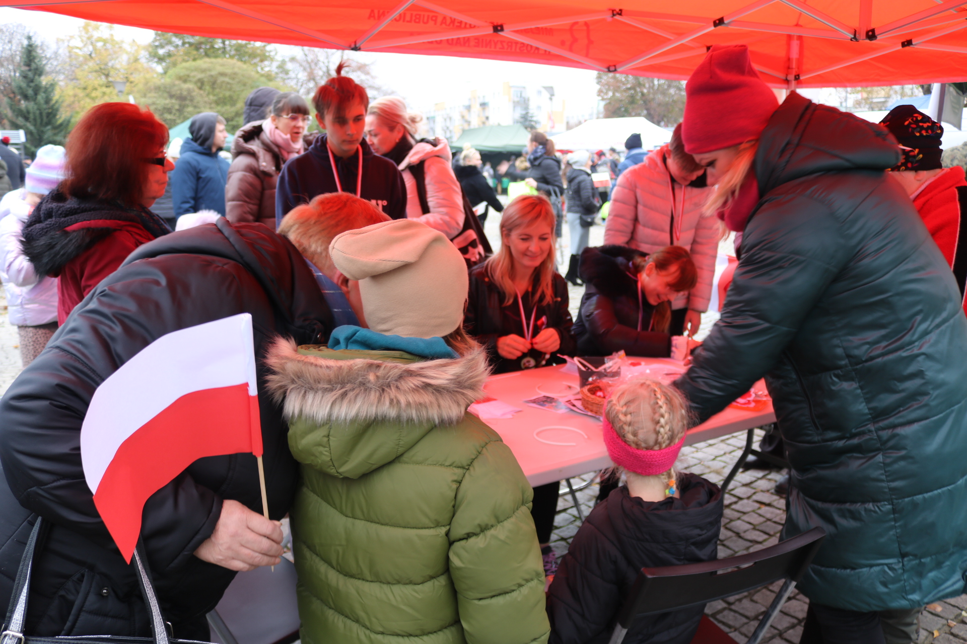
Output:
<instances>
[{"instance_id":1,"label":"grey cobblestone pavement visible beneath the table and chair","mask_svg":"<svg viewBox=\"0 0 967 644\"><path fill-rule=\"evenodd\" d=\"M756 441L761 432L756 432ZM683 471L700 474L713 483L721 484L733 463L745 447L745 434L732 434L682 449L678 466ZM722 518L721 536L718 541L718 557L745 554L778 542L779 530L785 521L785 499L777 496L773 488L782 476L780 472L747 470L739 472L725 494L725 511ZM571 479L577 487L593 475ZM571 494L561 486L561 499L551 546L558 557L564 555L577 532L580 522L574 511ZM587 517L598 496L594 484L577 492L581 511ZM780 583L762 588L746 595L712 602L705 612L722 630L737 642L745 643L755 630L766 607L776 597ZM798 591L782 606L763 639L764 643L797 644L803 632L808 601ZM967 642L967 595L929 604L920 616L918 644L963 644Z\"/></svg>"}]
</instances>

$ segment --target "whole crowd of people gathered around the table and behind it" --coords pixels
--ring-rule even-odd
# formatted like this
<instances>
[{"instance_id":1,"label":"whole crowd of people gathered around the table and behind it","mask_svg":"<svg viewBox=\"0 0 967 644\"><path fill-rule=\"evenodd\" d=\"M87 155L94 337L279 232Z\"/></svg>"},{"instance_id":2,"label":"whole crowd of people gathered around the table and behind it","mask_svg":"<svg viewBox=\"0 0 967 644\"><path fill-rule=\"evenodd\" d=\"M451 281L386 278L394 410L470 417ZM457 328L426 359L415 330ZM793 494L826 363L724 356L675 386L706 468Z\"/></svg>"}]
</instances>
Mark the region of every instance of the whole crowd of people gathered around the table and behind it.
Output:
<instances>
[{"instance_id":1,"label":"whole crowd of people gathered around the table and behind it","mask_svg":"<svg viewBox=\"0 0 967 644\"><path fill-rule=\"evenodd\" d=\"M780 104L743 45L712 47L686 91L670 143L630 140L620 163L534 132L526 169L496 170L537 194L506 205L480 154L454 169L403 100L370 102L341 66L312 98L324 133L308 134L305 99L259 90L230 164L217 114L173 150L149 110L92 108L0 202L26 367L0 401L0 605L40 517L27 632L150 636L81 425L162 335L249 313L271 514L250 454L194 462L145 504L179 638L208 640L235 572L278 564L289 515L307 643L607 641L638 570L716 558L722 492L674 463L689 427L765 377L790 463L783 538L826 531L799 586L801 641L915 641L921 607L967 574L967 525L945 511L967 502L963 170L941 168L942 127L907 106L879 126L795 93ZM616 182L605 243L588 247L602 162ZM165 200L178 232L153 210ZM483 202L501 217L493 254ZM729 231L738 266L699 343ZM576 321L568 281L585 286ZM615 468L558 562L559 484L532 488L468 406L491 373L667 357L681 335L682 378L606 401ZM639 619L626 641L688 644L701 614Z\"/></svg>"}]
</instances>

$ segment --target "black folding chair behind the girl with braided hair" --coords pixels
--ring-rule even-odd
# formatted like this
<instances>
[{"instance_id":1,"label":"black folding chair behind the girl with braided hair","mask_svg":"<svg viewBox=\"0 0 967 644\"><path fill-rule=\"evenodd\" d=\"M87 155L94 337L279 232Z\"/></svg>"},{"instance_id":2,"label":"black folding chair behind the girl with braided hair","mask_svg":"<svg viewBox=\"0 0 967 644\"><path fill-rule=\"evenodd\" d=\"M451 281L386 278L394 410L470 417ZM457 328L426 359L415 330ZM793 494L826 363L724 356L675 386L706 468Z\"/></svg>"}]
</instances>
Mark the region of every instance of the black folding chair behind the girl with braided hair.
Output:
<instances>
[{"instance_id":1,"label":"black folding chair behind the girl with braided hair","mask_svg":"<svg viewBox=\"0 0 967 644\"><path fill-rule=\"evenodd\" d=\"M736 557L700 564L643 568L618 613L618 624L611 633L610 644L620 644L634 620L643 615L704 605L785 579L776 599L748 638L747 644L759 644L779 608L803 578L825 537L825 530L812 528L776 546Z\"/></svg>"}]
</instances>

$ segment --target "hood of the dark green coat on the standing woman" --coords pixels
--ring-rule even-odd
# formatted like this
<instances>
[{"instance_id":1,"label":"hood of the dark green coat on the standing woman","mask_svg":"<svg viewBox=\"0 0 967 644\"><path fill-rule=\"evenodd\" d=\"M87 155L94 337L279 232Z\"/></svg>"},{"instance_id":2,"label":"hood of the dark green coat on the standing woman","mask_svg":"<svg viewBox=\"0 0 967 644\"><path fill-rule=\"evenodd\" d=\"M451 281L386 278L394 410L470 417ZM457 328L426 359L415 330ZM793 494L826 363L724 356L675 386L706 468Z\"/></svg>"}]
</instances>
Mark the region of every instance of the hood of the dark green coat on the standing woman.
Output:
<instances>
[{"instance_id":1,"label":"hood of the dark green coat on the standing woman","mask_svg":"<svg viewBox=\"0 0 967 644\"><path fill-rule=\"evenodd\" d=\"M900 150L886 127L791 94L769 121L755 154L755 178L766 194L821 172L886 170ZM778 135L777 135L778 134Z\"/></svg>"}]
</instances>

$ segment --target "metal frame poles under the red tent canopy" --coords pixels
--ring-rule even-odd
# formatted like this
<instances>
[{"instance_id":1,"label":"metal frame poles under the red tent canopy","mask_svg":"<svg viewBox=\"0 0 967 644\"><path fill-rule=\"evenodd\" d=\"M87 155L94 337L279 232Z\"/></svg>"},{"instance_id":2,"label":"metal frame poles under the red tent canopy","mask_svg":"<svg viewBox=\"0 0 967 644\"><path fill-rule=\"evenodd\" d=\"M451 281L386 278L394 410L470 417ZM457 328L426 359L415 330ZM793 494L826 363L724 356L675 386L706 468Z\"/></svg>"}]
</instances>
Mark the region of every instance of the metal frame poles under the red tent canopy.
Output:
<instances>
[{"instance_id":1,"label":"metal frame poles under the red tent canopy","mask_svg":"<svg viewBox=\"0 0 967 644\"><path fill-rule=\"evenodd\" d=\"M117 0L0 0L0 7L11 8L38 8L56 7L73 4L86 4L90 2L115 2ZM745 7L737 9L729 14L719 17L684 15L684 14L663 14L659 12L626 12L622 9L611 9L603 12L590 14L577 14L567 16L548 17L543 20L532 20L524 23L499 24L486 22L470 15L455 12L442 5L430 2L429 0L402 0L389 13L384 15L375 25L361 34L354 42L345 42L325 32L310 29L306 26L291 22L274 15L263 14L242 7L228 0L196 0L200 4L217 7L223 11L233 14L245 15L253 20L258 20L265 24L300 34L304 37L319 42L322 47L336 49L352 49L355 51L380 51L408 44L418 44L421 42L437 42L454 38L465 38L468 36L484 36L497 34L503 38L508 38L518 42L525 42L544 51L556 54L568 59L572 63L598 71L623 72L630 70L642 71L642 68L658 65L662 62L689 58L691 56L704 56L707 48L696 39L719 27L733 27L753 32L765 34L765 38L772 38L775 35L784 34L789 36L787 48L787 69L771 70L762 66L756 69L768 74L777 80L785 83L786 89L793 90L797 84L813 76L817 76L829 71L838 70L850 65L862 63L864 61L883 56L885 54L904 49L906 47L920 47L922 49L934 51L948 51L953 53L967 53L967 46L937 44L932 43L937 38L958 32L967 28L967 18L956 10L967 5L967 0L935 0L938 4L922 11L909 14L888 22L883 25L873 26L871 23L873 0L861 0L860 11L857 15L856 26L846 24L837 18L825 14L818 9L806 4L804 0L755 0ZM779 3L785 5L801 15L806 15L813 20L825 25L824 28L804 27L802 25L773 24L768 22L757 22L754 20L743 20L747 14L752 14L760 9ZM385 29L396 17L407 9L418 6L425 10L437 14L447 15L456 20L460 20L468 25L469 29L458 29L448 32L427 33L419 36L405 38L373 40L383 29ZM620 20L625 24L636 27L660 38L666 39L658 46L641 52L631 58L618 63L605 63L587 56L574 53L562 47L542 42L531 36L521 33L524 30L539 27L552 27L560 24L573 22L593 21L593 20ZM651 24L647 20L659 20L662 22L678 22L699 25L684 34L672 33L663 27ZM799 20L797 19L797 22ZM932 32L923 33L913 38L903 40L902 35L911 31L920 31L934 26L940 26ZM832 65L814 69L803 70L800 66L803 51L803 38L825 38L846 42L876 42L875 49L865 51L863 54L838 61ZM757 39L756 39L757 40ZM736 43L747 43L749 38L745 37ZM687 47L682 49L681 47ZM672 51L677 49L676 51ZM776 81L772 81L774 84Z\"/></svg>"}]
</instances>

